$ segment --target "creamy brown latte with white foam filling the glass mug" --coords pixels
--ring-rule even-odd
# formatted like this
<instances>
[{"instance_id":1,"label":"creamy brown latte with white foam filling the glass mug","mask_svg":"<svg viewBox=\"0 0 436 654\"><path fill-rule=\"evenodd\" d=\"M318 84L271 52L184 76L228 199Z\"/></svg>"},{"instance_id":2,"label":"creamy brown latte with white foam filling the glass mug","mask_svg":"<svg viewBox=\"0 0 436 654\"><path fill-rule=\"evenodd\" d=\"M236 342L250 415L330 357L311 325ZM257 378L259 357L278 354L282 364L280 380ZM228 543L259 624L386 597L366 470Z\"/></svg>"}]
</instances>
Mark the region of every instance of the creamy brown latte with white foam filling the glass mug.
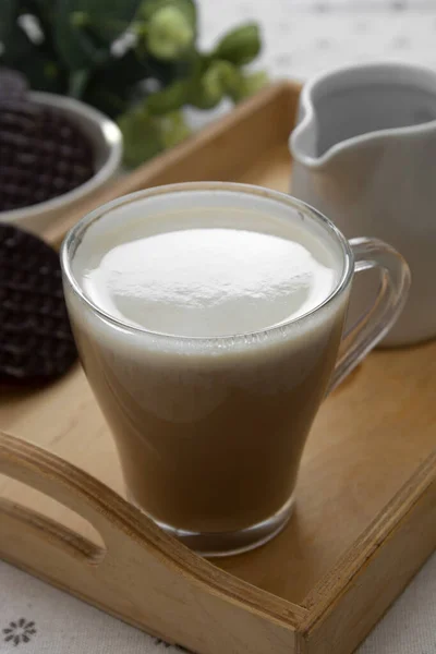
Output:
<instances>
[{"instance_id":1,"label":"creamy brown latte with white foam filling the glass mug","mask_svg":"<svg viewBox=\"0 0 436 654\"><path fill-rule=\"evenodd\" d=\"M197 549L289 516L343 266L320 222L226 189L132 196L80 234L66 301L130 498Z\"/></svg>"}]
</instances>

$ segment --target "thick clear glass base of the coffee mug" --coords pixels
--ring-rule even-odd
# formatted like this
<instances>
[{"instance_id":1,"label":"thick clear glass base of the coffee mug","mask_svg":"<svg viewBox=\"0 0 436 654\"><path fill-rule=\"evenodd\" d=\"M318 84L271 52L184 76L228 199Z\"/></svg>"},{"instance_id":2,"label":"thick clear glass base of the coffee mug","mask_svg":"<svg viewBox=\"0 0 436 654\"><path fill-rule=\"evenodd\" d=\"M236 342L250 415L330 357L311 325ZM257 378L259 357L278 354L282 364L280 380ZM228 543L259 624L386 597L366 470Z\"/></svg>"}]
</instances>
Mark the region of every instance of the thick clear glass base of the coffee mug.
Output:
<instances>
[{"instance_id":1,"label":"thick clear glass base of the coffee mug","mask_svg":"<svg viewBox=\"0 0 436 654\"><path fill-rule=\"evenodd\" d=\"M292 495L276 513L245 529L229 532L193 532L156 520L135 501L131 493L128 493L128 499L162 531L206 558L233 556L265 545L284 529L294 506L294 495Z\"/></svg>"}]
</instances>

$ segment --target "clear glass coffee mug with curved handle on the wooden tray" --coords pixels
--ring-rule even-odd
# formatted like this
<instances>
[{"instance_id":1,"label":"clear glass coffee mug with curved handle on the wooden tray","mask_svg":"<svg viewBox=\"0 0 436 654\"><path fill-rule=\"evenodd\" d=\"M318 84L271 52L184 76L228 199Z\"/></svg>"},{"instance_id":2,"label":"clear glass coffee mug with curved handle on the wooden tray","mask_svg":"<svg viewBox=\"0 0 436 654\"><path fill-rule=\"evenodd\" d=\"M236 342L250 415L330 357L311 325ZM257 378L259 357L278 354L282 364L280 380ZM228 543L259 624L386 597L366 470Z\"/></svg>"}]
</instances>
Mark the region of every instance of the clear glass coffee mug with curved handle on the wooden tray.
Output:
<instances>
[{"instance_id":1,"label":"clear glass coffee mug with curved handle on the wooden tray","mask_svg":"<svg viewBox=\"0 0 436 654\"><path fill-rule=\"evenodd\" d=\"M147 329L92 299L89 268L116 245L207 227L316 242L319 256L334 262L331 292L296 318L214 337L159 332L156 315ZM319 404L393 325L410 284L405 262L382 241L348 242L293 197L220 182L111 202L70 231L61 261L81 360L129 497L206 556L256 547L283 528ZM370 268L379 271L378 295L342 334L353 276Z\"/></svg>"}]
</instances>

